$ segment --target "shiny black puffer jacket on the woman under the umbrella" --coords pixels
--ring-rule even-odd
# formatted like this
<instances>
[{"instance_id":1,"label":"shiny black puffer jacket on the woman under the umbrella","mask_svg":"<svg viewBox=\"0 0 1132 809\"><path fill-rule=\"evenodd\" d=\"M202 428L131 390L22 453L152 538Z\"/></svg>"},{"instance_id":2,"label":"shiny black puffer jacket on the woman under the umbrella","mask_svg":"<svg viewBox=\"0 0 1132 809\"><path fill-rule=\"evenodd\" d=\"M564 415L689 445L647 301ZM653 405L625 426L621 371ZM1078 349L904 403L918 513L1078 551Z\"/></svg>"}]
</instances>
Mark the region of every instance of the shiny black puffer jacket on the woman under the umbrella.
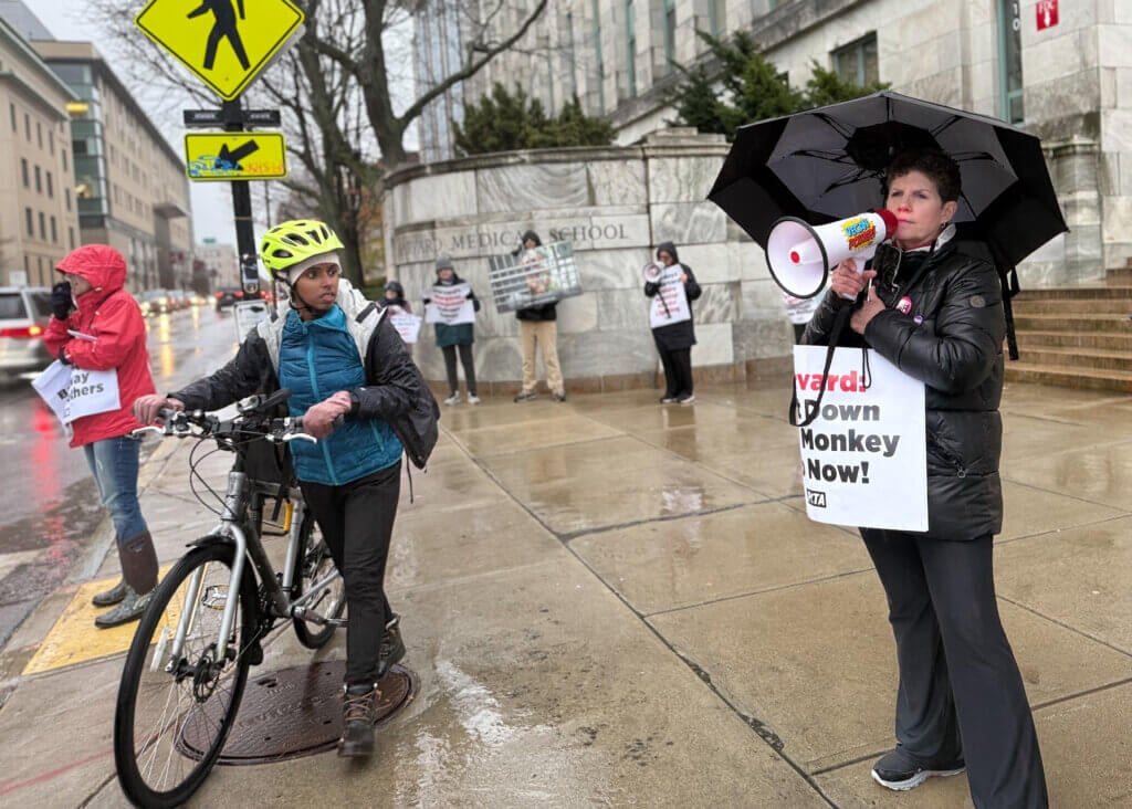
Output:
<instances>
[{"instance_id":1,"label":"shiny black puffer jacket on the woman under the umbrella","mask_svg":"<svg viewBox=\"0 0 1132 809\"><path fill-rule=\"evenodd\" d=\"M904 255L898 289L874 284L887 308L865 342L926 386L928 535L974 540L1002 530L1002 284L979 243L950 241L920 257ZM803 342L826 344L837 309L831 291ZM847 327L839 344L861 339Z\"/></svg>"}]
</instances>

